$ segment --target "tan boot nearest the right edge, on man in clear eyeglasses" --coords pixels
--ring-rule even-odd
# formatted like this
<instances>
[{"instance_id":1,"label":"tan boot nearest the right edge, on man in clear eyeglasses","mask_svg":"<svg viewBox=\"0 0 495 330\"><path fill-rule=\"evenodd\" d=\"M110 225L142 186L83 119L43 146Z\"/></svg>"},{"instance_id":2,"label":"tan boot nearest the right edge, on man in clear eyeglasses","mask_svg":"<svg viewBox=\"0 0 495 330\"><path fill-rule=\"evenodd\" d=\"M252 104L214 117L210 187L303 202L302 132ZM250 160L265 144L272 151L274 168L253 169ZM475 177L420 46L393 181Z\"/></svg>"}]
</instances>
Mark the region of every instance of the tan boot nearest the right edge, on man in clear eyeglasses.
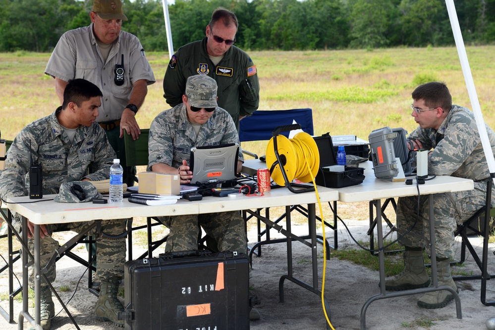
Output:
<instances>
[{"instance_id":1,"label":"tan boot nearest the right edge, on man in clear eyeglasses","mask_svg":"<svg viewBox=\"0 0 495 330\"><path fill-rule=\"evenodd\" d=\"M450 274L450 259L437 259L437 274L439 286L450 286L457 293L459 292L454 280L452 279L452 275ZM445 307L452 299L454 299L454 295L447 290L427 292L418 300L418 306L426 309L442 308Z\"/></svg>"}]
</instances>

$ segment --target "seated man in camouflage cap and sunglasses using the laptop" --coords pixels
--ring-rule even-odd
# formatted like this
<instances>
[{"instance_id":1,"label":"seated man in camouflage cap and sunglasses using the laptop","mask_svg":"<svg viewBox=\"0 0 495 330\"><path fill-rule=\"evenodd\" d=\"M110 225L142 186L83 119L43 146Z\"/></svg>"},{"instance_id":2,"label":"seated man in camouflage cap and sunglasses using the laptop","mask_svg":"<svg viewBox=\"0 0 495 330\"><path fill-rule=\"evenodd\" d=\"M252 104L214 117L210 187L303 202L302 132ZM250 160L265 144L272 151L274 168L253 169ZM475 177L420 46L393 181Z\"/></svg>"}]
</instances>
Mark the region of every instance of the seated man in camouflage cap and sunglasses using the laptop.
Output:
<instances>
[{"instance_id":1,"label":"seated man in camouflage cap and sunglasses using the laptop","mask_svg":"<svg viewBox=\"0 0 495 330\"><path fill-rule=\"evenodd\" d=\"M206 75L187 79L183 103L160 113L151 123L148 166L153 172L180 175L180 183L193 180L191 147L239 143L234 122L217 105L217 83ZM237 169L240 171L242 152ZM247 252L244 220L238 211L161 217L170 229L165 251L198 248L200 226L218 242L219 251Z\"/></svg>"}]
</instances>

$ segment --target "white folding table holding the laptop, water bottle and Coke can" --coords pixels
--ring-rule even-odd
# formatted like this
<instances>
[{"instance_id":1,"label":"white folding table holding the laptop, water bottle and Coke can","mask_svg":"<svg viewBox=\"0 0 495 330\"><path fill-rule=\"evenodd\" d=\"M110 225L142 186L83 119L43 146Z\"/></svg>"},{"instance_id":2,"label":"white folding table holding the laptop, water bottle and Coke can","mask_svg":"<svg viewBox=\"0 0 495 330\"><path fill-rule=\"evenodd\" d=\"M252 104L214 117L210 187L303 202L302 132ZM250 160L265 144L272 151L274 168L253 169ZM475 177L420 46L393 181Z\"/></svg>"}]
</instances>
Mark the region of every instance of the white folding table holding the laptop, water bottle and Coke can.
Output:
<instances>
[{"instance_id":1,"label":"white folding table holding the laptop, water bottle and Coke can","mask_svg":"<svg viewBox=\"0 0 495 330\"><path fill-rule=\"evenodd\" d=\"M319 189L320 200L322 202L334 201L338 198L338 192L334 189L322 188ZM55 195L44 196L43 199L50 199ZM318 202L314 192L304 192L294 194L286 188L274 189L265 196L241 196L237 198L229 197L205 197L200 201L178 200L175 204L168 205L141 205L129 203L124 199L121 203L112 204L93 204L93 203L56 203L53 200L33 200L29 197L14 197L7 200L6 204L9 209L9 217L11 212L17 212L28 218L34 226L34 267L35 267L35 315L34 319L28 311L28 299L23 299L23 308L19 314L19 330L22 329L23 319L26 318L36 329L41 329L40 325L40 284L41 284L41 269L40 269L40 225L54 223L71 223L81 221L91 221L95 219L124 219L130 217L152 217L165 215L184 215L184 214L201 214L210 212L226 212L238 211L246 209L256 209L274 206L286 206L292 204L308 204L309 214L309 231L311 234L311 244L313 257L313 285L308 285L294 278L292 274L292 255L291 241L297 236L290 233L290 217L287 219L287 230L284 235L287 236L287 275L281 277L279 286L283 283L283 279L287 278L298 285L301 285L315 293L320 293L317 277L317 255L316 255L316 223L315 223L315 203ZM25 203L27 202L27 203ZM10 219L11 220L11 219ZM24 220L23 228L26 228L27 221ZM27 231L22 232L22 240L27 242ZM27 244L26 244L27 245ZM27 253L23 253L23 265L28 263ZM28 297L28 269L23 267L23 297ZM77 327L77 326L76 326Z\"/></svg>"}]
</instances>

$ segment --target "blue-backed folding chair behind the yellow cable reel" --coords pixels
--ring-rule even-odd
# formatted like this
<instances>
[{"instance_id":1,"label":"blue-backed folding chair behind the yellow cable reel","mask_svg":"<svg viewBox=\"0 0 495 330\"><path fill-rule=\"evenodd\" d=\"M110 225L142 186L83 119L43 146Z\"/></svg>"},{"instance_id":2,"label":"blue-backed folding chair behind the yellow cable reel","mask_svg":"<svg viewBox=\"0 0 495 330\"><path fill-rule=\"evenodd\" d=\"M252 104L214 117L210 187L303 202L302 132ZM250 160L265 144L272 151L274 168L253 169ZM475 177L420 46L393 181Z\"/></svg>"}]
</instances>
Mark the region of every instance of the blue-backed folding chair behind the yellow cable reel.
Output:
<instances>
[{"instance_id":1,"label":"blue-backed folding chair behind the yellow cable reel","mask_svg":"<svg viewBox=\"0 0 495 330\"><path fill-rule=\"evenodd\" d=\"M308 133L309 135L313 135L313 113L311 108L305 108L305 109L290 109L290 110L258 110L255 111L251 116L243 118L239 122L239 141L241 142L246 142L246 141L268 141L272 138L272 133L277 128L278 126L287 126L287 125L292 125L294 123L300 124L302 131ZM289 136L289 132L281 132L282 135L285 137ZM247 150L242 150L244 154L250 155L254 157L255 159L258 158L258 155L252 152L249 152ZM334 202L336 204L336 202ZM334 205L336 207L336 205ZM298 211L304 216L308 216L308 210L301 205L292 205L290 207L290 212L292 211ZM261 216L261 211L262 209L256 210L256 214L258 216ZM255 217L255 215L249 215L247 214L248 212L243 211L243 217L246 219L246 222L251 219L252 217ZM280 222L286 217L286 212L284 212L281 216L275 219L273 221L275 224ZM270 219L270 210L269 208L265 208L265 218ZM318 218L319 219L319 218ZM261 228L261 220L257 217L257 227L258 227L258 241L255 243L251 248L249 252L249 257L250 260L252 259L253 253L256 253L256 255L261 256L261 246L265 244L272 244L272 243L281 243L285 242L285 238L280 238L280 239L273 239L270 237L270 226L265 225L265 229L262 230ZM321 219L319 219L321 220ZM325 222L325 225L327 225L331 230L333 230L334 234L334 245L331 246L331 248L337 247L337 219L334 216L333 219L333 225L330 225L329 223ZM264 237L264 239L263 239ZM309 239L310 236L303 236L303 239ZM330 244L327 242L327 240L322 237L318 236L319 242L324 244L325 247L327 248L327 251L330 252ZM329 256L330 253L327 253Z\"/></svg>"}]
</instances>

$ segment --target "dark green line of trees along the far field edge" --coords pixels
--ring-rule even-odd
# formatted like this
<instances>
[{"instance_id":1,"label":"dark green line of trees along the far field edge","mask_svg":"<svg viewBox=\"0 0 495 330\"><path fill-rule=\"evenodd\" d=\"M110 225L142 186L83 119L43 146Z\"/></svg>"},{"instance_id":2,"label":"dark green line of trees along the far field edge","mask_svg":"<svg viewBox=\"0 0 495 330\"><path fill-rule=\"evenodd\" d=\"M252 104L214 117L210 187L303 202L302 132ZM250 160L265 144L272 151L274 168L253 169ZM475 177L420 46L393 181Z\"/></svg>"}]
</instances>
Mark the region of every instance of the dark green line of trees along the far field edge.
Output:
<instances>
[{"instance_id":1,"label":"dark green line of trees along the far field edge","mask_svg":"<svg viewBox=\"0 0 495 330\"><path fill-rule=\"evenodd\" d=\"M455 0L464 42L493 43L495 0ZM0 0L0 51L51 52L67 30L89 25L93 0ZM175 0L168 5L174 49L202 39L217 7L239 20L236 45L312 50L454 45L444 0ZM166 51L161 0L123 0L147 51Z\"/></svg>"}]
</instances>

